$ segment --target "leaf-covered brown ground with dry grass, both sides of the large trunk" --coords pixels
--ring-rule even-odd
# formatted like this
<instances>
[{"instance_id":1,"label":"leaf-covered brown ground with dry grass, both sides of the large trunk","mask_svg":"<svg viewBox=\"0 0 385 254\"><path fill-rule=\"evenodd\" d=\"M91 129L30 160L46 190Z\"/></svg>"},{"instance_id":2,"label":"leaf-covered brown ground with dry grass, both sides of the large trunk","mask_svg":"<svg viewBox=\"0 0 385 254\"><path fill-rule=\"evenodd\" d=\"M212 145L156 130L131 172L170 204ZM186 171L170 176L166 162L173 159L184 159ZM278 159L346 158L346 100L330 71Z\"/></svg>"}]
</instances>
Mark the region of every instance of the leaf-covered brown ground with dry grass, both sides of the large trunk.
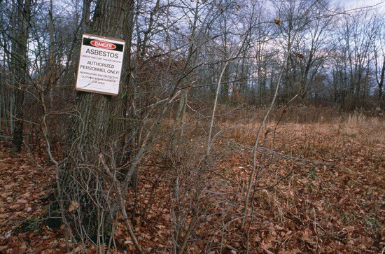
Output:
<instances>
[{"instance_id":1,"label":"leaf-covered brown ground with dry grass, both sides of the large trunk","mask_svg":"<svg viewBox=\"0 0 385 254\"><path fill-rule=\"evenodd\" d=\"M223 132L214 147L218 153L195 200L200 211L188 241L189 253L244 253L246 248L250 253L384 252L383 118L351 114L318 122L285 120L278 127L276 121L269 122L264 145L279 153L274 160L271 153L260 160L263 167L248 210L252 219L244 227L240 225L252 168L249 148L258 125L248 121L231 126L232 122L221 122ZM195 136L186 150L197 150L200 141ZM65 253L62 228L46 223L53 169L39 153L24 149L12 155L9 149L9 141L0 142L0 253ZM174 162L161 156L163 150L157 144L141 164L138 204L127 197L135 233L148 253L172 252L172 221L183 218L183 211L191 212L188 193L193 190L188 184L181 184L179 191L186 196L178 209L173 203L169 171ZM192 157L190 153L190 164ZM188 225L193 219L184 216ZM123 223L117 227L116 241L118 252L135 252ZM75 246L72 251L82 249ZM94 246L85 249L95 251Z\"/></svg>"}]
</instances>

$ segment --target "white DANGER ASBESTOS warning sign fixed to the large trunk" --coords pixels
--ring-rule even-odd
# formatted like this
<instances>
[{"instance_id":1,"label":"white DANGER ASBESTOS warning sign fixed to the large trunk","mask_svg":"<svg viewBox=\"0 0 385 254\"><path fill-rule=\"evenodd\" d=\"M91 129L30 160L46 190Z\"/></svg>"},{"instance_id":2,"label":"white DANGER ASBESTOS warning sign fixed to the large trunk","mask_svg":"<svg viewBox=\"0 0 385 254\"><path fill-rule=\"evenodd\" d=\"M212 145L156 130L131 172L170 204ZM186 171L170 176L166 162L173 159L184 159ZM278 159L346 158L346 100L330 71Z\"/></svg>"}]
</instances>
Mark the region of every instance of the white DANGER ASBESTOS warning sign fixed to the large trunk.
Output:
<instances>
[{"instance_id":1,"label":"white DANGER ASBESTOS warning sign fixed to the large trunk","mask_svg":"<svg viewBox=\"0 0 385 254\"><path fill-rule=\"evenodd\" d=\"M76 90L118 94L124 49L123 40L83 34Z\"/></svg>"}]
</instances>

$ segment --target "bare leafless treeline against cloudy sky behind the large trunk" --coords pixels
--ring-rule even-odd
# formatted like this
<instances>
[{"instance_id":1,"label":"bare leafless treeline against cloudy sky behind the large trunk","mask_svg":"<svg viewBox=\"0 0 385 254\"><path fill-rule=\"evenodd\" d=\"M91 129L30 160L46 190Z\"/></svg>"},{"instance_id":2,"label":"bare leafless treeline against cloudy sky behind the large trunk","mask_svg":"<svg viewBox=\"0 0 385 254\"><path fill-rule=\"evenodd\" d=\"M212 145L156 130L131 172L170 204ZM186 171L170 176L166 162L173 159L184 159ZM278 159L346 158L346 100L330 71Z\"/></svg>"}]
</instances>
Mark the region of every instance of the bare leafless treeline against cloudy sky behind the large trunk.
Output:
<instances>
[{"instance_id":1,"label":"bare leafless treeline against cloudy sky behind the large trunk","mask_svg":"<svg viewBox=\"0 0 385 254\"><path fill-rule=\"evenodd\" d=\"M136 1L132 61L125 70L132 73L130 85L146 101L184 75L182 90L211 101L228 62L221 78L223 103L267 104L283 72L281 103L297 96L303 103L346 109L383 106L384 6L348 10L322 0L304 15L310 4ZM18 108L34 104L36 94L43 92L51 106L73 97L80 36L95 5L90 0L0 5L1 127L13 132ZM20 90L33 96L18 99Z\"/></svg>"}]
</instances>

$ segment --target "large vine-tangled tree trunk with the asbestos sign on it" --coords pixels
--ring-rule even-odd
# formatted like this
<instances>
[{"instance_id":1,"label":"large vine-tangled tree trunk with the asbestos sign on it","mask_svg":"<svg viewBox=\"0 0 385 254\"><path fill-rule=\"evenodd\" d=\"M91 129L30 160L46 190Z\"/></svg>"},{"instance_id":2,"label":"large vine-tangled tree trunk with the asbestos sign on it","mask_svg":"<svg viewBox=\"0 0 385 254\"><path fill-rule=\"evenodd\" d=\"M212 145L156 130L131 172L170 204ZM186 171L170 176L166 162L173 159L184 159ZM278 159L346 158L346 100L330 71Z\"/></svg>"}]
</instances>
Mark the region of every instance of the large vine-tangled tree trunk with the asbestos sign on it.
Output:
<instances>
[{"instance_id":1,"label":"large vine-tangled tree trunk with the asbestos sign on it","mask_svg":"<svg viewBox=\"0 0 385 254\"><path fill-rule=\"evenodd\" d=\"M134 1L99 0L95 8L90 33L126 40L121 90L127 90L127 73L130 63L132 10ZM72 118L67 138L66 160L60 176L64 206L71 230L81 239L91 239L95 244L105 242L117 200L109 195L109 175L101 167L101 157L106 165L118 167L117 157L124 150L119 140L124 136L124 112L121 96L78 92L78 116Z\"/></svg>"}]
</instances>

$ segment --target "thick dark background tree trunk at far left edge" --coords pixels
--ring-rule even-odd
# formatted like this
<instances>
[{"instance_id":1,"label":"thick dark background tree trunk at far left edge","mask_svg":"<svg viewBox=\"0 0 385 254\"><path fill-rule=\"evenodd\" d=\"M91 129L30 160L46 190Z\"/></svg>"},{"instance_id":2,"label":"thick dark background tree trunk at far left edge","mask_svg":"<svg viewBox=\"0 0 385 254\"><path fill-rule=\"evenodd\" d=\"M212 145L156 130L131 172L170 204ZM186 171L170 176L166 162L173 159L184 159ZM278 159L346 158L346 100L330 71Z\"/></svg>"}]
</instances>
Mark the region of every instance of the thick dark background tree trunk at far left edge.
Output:
<instances>
[{"instance_id":1,"label":"thick dark background tree trunk at far left edge","mask_svg":"<svg viewBox=\"0 0 385 254\"><path fill-rule=\"evenodd\" d=\"M15 91L15 115L13 125L13 141L11 152L20 153L22 149L22 127L23 127L23 110L24 92L26 89L26 73L27 73L27 43L29 32L29 20L31 17L31 0L18 0L18 32L13 41L13 86Z\"/></svg>"}]
</instances>

